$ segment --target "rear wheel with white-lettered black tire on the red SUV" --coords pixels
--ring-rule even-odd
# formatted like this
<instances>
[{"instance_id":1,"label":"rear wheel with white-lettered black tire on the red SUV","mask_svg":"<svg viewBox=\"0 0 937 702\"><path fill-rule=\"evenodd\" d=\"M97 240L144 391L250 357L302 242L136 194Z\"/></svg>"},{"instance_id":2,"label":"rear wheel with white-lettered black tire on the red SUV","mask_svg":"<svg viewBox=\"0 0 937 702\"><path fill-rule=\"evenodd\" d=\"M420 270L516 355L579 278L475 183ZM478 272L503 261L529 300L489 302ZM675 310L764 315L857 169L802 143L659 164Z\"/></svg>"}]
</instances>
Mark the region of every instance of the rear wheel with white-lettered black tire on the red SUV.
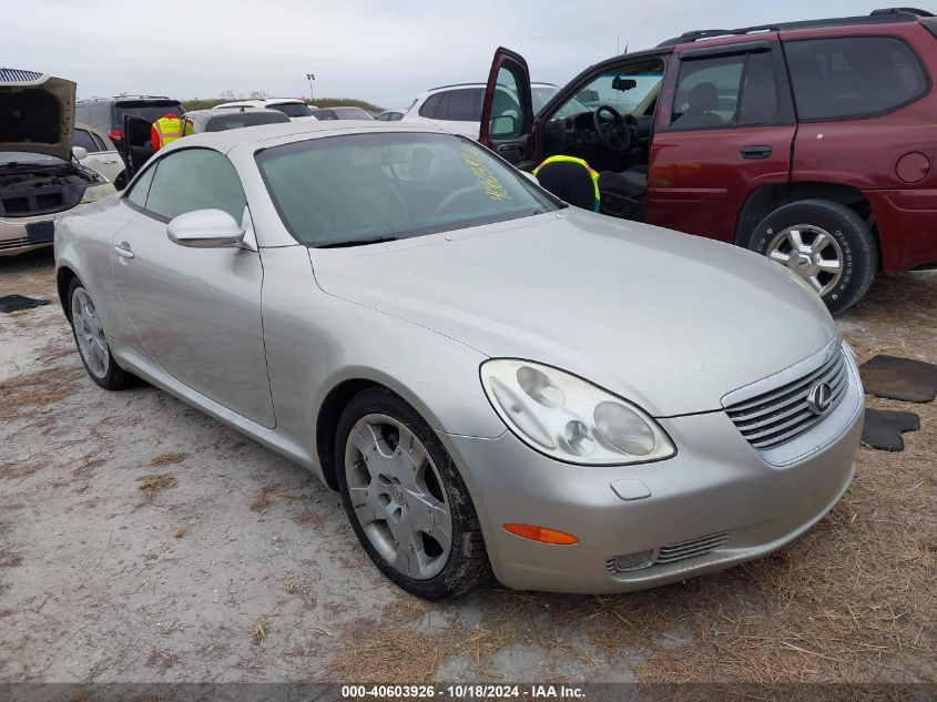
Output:
<instances>
[{"instance_id":1,"label":"rear wheel with white-lettered black tire on the red SUV","mask_svg":"<svg viewBox=\"0 0 937 702\"><path fill-rule=\"evenodd\" d=\"M855 305L875 277L875 235L855 212L827 200L778 207L755 228L748 248L804 278L833 314Z\"/></svg>"}]
</instances>

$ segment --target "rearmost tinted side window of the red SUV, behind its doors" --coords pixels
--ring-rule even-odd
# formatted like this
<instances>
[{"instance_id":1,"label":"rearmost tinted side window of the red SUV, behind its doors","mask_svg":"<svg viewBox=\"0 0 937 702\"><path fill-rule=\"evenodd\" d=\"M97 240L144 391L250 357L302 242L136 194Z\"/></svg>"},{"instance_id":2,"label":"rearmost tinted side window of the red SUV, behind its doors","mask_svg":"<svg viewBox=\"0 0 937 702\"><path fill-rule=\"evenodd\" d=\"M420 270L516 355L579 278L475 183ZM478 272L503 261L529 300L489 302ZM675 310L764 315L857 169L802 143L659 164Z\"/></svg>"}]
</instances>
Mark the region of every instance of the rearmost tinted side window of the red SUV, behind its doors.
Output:
<instances>
[{"instance_id":1,"label":"rearmost tinted side window of the red SUV, behind its doors","mask_svg":"<svg viewBox=\"0 0 937 702\"><path fill-rule=\"evenodd\" d=\"M929 80L915 52L893 37L785 42L801 120L872 116L924 95Z\"/></svg>"}]
</instances>

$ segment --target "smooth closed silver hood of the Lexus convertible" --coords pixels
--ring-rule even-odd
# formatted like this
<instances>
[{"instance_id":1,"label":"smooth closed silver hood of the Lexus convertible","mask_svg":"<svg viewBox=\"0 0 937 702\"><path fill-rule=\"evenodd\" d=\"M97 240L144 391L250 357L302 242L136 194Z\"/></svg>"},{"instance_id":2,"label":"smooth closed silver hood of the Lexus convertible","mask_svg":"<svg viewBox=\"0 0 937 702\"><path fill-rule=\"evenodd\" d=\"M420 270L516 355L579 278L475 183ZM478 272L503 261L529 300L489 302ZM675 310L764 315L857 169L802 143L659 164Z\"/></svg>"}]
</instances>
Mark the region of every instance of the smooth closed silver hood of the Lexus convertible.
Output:
<instances>
[{"instance_id":1,"label":"smooth closed silver hood of the Lexus convertible","mask_svg":"<svg viewBox=\"0 0 937 702\"><path fill-rule=\"evenodd\" d=\"M309 255L327 293L569 370L658 417L719 409L837 334L762 256L580 211Z\"/></svg>"}]
</instances>

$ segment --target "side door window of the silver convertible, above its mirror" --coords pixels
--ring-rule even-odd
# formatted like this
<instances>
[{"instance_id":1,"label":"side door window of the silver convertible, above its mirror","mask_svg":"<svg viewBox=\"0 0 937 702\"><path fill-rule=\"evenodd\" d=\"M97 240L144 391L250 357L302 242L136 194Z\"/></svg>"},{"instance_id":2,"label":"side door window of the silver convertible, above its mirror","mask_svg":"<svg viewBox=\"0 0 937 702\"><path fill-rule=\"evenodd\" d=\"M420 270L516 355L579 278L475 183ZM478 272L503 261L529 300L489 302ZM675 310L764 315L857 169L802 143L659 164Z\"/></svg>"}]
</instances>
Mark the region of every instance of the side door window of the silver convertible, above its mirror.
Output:
<instances>
[{"instance_id":1,"label":"side door window of the silver convertible, above its mirror","mask_svg":"<svg viewBox=\"0 0 937 702\"><path fill-rule=\"evenodd\" d=\"M146 210L172 220L195 210L223 210L241 222L247 200L231 161L210 149L176 151L159 162Z\"/></svg>"}]
</instances>

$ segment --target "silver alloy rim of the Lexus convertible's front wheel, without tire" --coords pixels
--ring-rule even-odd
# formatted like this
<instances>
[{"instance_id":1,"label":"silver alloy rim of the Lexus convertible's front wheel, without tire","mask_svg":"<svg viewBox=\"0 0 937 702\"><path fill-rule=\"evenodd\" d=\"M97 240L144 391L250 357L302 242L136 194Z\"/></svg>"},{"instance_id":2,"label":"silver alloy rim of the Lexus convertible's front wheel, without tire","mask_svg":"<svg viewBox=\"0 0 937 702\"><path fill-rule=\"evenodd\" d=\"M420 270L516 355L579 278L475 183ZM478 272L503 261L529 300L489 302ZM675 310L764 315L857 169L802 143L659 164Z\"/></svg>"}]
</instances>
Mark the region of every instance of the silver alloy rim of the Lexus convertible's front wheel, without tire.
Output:
<instances>
[{"instance_id":1,"label":"silver alloy rim of the Lexus convertible's front wheel, without tire","mask_svg":"<svg viewBox=\"0 0 937 702\"><path fill-rule=\"evenodd\" d=\"M358 419L345 445L348 496L371 546L415 580L437 576L452 550L452 516L429 452L387 415Z\"/></svg>"}]
</instances>

